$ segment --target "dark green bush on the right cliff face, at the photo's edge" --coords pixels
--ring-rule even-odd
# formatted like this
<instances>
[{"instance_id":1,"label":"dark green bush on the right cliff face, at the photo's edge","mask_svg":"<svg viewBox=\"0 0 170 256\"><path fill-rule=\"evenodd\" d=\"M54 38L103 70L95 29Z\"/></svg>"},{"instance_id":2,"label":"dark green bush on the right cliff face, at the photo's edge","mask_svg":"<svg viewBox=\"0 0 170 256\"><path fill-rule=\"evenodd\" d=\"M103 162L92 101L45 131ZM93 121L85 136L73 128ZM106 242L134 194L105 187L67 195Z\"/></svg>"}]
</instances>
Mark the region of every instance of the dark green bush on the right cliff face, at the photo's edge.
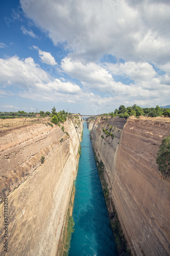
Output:
<instances>
[{"instance_id":1,"label":"dark green bush on the right cliff face, at the photo's edge","mask_svg":"<svg viewBox=\"0 0 170 256\"><path fill-rule=\"evenodd\" d=\"M170 173L170 134L162 140L157 155L156 163L158 164L160 172L166 178Z\"/></svg>"}]
</instances>

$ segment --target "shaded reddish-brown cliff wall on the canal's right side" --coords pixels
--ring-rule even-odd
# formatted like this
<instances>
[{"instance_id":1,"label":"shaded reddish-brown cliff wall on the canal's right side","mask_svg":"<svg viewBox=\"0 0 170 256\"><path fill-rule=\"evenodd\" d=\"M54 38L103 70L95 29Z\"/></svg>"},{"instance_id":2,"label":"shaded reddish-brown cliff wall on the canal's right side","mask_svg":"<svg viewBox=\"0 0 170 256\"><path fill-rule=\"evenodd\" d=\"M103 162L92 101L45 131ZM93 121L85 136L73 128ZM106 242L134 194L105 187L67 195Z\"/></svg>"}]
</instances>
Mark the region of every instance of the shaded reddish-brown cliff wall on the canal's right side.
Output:
<instances>
[{"instance_id":1,"label":"shaded reddish-brown cliff wall on the canal's right side","mask_svg":"<svg viewBox=\"0 0 170 256\"><path fill-rule=\"evenodd\" d=\"M102 131L110 125L113 139ZM105 164L110 196L134 255L170 254L170 180L163 179L156 164L159 145L169 133L164 118L114 117L92 126L92 145Z\"/></svg>"}]
</instances>

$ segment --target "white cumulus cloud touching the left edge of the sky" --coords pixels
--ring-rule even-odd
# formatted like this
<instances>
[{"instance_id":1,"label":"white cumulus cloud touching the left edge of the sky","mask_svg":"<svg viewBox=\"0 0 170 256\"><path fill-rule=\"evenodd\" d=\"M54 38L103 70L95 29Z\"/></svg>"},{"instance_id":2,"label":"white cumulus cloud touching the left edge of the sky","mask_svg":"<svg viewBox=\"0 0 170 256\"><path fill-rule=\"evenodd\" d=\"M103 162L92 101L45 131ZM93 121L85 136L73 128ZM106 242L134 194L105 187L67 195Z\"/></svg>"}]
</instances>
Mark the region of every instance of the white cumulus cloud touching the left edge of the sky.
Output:
<instances>
[{"instance_id":1,"label":"white cumulus cloud touching the left edge of the sky","mask_svg":"<svg viewBox=\"0 0 170 256\"><path fill-rule=\"evenodd\" d=\"M62 82L59 79L50 77L48 73L42 70L34 60L29 57L19 59L13 56L8 59L0 59L0 84L2 91L7 87L15 87L19 89L20 95L37 94L37 99L42 99L52 95L61 96L63 94L78 94L81 89L77 84L71 82ZM33 97L34 98L34 97Z\"/></svg>"}]
</instances>

